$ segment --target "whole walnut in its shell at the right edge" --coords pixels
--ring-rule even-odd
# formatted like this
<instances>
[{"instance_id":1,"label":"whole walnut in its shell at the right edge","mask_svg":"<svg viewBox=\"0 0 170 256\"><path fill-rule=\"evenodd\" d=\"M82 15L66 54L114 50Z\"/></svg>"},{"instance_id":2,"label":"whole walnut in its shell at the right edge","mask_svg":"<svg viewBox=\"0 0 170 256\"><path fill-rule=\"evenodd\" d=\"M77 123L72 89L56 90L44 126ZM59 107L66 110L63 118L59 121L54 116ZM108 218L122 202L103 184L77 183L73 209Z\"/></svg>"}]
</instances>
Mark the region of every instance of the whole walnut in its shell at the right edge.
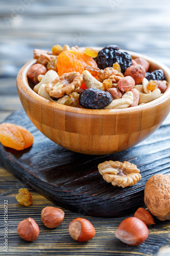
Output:
<instances>
[{"instance_id":1,"label":"whole walnut in its shell at the right edge","mask_svg":"<svg viewBox=\"0 0 170 256\"><path fill-rule=\"evenodd\" d=\"M144 203L158 220L170 220L170 175L156 174L147 181Z\"/></svg>"}]
</instances>

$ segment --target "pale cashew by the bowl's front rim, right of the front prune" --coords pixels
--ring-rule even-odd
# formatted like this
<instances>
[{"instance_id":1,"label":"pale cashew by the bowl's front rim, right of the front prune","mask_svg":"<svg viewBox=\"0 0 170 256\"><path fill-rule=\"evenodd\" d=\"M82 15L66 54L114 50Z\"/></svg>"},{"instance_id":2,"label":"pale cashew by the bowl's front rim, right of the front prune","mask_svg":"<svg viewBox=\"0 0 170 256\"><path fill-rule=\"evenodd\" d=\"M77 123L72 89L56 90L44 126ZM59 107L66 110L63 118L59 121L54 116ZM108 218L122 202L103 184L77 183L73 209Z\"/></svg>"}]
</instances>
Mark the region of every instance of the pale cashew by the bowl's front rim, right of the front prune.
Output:
<instances>
[{"instance_id":1,"label":"pale cashew by the bowl's front rim, right of the front prune","mask_svg":"<svg viewBox=\"0 0 170 256\"><path fill-rule=\"evenodd\" d=\"M114 99L112 102L105 106L105 110L111 109L125 109L133 103L133 93L131 91L126 92L121 99Z\"/></svg>"}]
</instances>

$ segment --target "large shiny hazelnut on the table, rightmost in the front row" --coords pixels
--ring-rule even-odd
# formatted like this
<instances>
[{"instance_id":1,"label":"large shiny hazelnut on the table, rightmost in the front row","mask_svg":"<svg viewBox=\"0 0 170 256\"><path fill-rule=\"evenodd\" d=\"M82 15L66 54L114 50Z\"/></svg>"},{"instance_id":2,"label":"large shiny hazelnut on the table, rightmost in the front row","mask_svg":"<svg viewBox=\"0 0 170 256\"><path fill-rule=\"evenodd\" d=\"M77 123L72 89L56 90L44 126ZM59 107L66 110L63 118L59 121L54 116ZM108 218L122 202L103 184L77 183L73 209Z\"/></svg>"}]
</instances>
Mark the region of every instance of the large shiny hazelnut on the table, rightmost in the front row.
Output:
<instances>
[{"instance_id":1,"label":"large shiny hazelnut on the table, rightmost in the front row","mask_svg":"<svg viewBox=\"0 0 170 256\"><path fill-rule=\"evenodd\" d=\"M148 227L135 217L125 219L118 226L115 237L128 245L142 244L148 238Z\"/></svg>"}]
</instances>

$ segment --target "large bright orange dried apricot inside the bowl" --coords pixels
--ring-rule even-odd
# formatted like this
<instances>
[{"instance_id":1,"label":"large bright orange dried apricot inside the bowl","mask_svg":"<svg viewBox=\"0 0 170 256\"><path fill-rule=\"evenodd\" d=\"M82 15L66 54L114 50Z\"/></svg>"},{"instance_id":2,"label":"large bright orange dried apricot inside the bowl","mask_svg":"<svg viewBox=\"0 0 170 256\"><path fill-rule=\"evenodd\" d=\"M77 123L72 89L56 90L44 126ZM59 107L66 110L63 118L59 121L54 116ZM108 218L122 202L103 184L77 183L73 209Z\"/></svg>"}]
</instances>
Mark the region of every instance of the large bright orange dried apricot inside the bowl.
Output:
<instances>
[{"instance_id":1,"label":"large bright orange dried apricot inside the bowl","mask_svg":"<svg viewBox=\"0 0 170 256\"><path fill-rule=\"evenodd\" d=\"M98 68L93 58L87 56L83 52L64 51L60 53L57 58L57 70L59 76L73 71L82 74L86 66Z\"/></svg>"}]
</instances>

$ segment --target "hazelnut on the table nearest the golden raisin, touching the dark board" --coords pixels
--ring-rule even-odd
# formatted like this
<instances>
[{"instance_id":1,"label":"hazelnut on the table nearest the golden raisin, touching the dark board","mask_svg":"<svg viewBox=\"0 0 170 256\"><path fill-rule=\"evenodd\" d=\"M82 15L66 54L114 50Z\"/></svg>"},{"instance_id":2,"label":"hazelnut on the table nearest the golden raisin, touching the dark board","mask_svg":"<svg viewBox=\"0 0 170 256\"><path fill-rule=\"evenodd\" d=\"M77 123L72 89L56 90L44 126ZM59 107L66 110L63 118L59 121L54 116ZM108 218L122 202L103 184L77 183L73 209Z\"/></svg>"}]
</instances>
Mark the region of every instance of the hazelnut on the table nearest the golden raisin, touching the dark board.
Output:
<instances>
[{"instance_id":1,"label":"hazelnut on the table nearest the golden raisin, touching the dark board","mask_svg":"<svg viewBox=\"0 0 170 256\"><path fill-rule=\"evenodd\" d=\"M64 220L64 211L56 207L45 207L41 211L41 220L48 228L58 227Z\"/></svg>"}]
</instances>

